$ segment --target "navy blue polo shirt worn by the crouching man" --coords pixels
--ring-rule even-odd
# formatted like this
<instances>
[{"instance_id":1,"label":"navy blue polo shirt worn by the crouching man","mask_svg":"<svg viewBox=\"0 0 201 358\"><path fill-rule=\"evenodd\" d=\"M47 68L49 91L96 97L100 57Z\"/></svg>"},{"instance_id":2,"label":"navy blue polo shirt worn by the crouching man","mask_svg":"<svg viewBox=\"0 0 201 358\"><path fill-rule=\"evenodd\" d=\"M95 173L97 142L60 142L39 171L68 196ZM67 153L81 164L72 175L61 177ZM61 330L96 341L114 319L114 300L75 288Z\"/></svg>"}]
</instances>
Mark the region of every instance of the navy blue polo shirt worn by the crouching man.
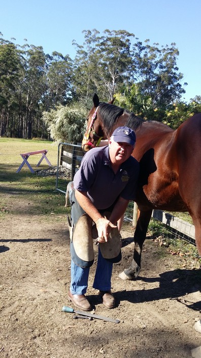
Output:
<instances>
[{"instance_id":1,"label":"navy blue polo shirt worn by the crouching man","mask_svg":"<svg viewBox=\"0 0 201 358\"><path fill-rule=\"evenodd\" d=\"M139 162L129 157L115 174L112 170L109 146L93 148L87 152L80 169L74 176L74 188L87 192L98 210L110 207L121 196L135 200Z\"/></svg>"}]
</instances>

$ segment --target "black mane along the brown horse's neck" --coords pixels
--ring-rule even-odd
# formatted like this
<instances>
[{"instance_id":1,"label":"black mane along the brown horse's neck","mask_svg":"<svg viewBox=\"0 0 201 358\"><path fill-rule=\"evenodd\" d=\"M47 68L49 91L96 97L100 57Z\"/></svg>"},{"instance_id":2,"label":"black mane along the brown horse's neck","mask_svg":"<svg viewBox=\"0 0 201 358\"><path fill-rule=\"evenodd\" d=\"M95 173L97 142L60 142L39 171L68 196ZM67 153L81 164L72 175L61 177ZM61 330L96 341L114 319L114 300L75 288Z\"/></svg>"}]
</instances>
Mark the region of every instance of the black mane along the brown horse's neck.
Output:
<instances>
[{"instance_id":1,"label":"black mane along the brown horse's neck","mask_svg":"<svg viewBox=\"0 0 201 358\"><path fill-rule=\"evenodd\" d=\"M98 108L98 115L101 117L103 122L106 136L111 134L110 131L117 122L118 117L124 113L128 114L128 119L125 123L125 126L131 128L133 131L136 131L139 127L141 127L143 122L145 122L142 118L139 118L134 113L113 104L102 102L99 104Z\"/></svg>"}]
</instances>

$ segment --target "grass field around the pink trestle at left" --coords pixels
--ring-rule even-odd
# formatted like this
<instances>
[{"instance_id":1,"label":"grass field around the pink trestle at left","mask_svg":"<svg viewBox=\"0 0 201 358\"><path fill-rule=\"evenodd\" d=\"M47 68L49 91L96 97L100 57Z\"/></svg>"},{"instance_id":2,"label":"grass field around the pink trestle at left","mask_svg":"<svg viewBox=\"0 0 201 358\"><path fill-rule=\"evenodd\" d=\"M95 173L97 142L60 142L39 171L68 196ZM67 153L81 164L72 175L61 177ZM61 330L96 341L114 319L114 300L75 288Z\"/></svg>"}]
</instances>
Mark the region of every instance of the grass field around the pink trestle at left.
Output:
<instances>
[{"instance_id":1,"label":"grass field around the pink trestle at left","mask_svg":"<svg viewBox=\"0 0 201 358\"><path fill-rule=\"evenodd\" d=\"M47 157L52 166L57 165L57 145L50 141L0 138L0 218L6 219L9 214L18 215L26 212L30 215L41 215L45 220L65 220L69 209L64 207L65 195L56 191L55 176L40 176L31 173L24 165L16 173L22 162L20 153L35 152L47 149ZM34 170L48 169L45 160L39 167L41 155L29 157ZM66 188L66 181L63 186ZM18 201L24 201L26 207L18 207ZM27 209L28 208L28 209ZM55 220L55 219L54 219Z\"/></svg>"}]
</instances>

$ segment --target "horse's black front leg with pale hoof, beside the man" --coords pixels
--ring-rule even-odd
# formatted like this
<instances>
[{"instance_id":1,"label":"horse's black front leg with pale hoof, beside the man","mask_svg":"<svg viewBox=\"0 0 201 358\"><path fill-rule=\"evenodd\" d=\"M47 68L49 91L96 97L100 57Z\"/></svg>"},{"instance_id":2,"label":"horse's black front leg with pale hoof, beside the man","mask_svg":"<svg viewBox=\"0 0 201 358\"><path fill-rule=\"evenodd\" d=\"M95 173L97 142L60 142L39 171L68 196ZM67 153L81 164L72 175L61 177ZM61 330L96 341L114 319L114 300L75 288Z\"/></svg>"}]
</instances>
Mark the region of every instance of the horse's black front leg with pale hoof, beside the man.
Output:
<instances>
[{"instance_id":1,"label":"horse's black front leg with pale hoof, beside the man","mask_svg":"<svg viewBox=\"0 0 201 358\"><path fill-rule=\"evenodd\" d=\"M133 259L131 265L119 275L122 280L135 280L139 275L141 268L142 247L146 238L151 214L152 210L140 212L134 235L135 249L133 253Z\"/></svg>"}]
</instances>

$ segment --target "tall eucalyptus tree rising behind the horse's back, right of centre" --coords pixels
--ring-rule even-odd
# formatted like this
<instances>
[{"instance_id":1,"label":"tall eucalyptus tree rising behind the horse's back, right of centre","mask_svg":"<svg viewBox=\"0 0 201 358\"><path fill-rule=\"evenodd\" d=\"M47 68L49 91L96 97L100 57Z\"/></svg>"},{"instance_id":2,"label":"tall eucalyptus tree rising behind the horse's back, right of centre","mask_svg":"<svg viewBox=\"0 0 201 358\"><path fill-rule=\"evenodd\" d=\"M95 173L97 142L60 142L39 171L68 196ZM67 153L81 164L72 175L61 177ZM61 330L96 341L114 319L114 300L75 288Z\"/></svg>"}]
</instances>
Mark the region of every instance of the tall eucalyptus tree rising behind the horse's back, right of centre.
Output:
<instances>
[{"instance_id":1,"label":"tall eucalyptus tree rising behind the horse's back, right of centre","mask_svg":"<svg viewBox=\"0 0 201 358\"><path fill-rule=\"evenodd\" d=\"M141 94L151 99L153 109L165 108L185 93L181 85L183 74L177 67L179 51L175 43L159 47L158 43L149 42L133 44L132 77Z\"/></svg>"}]
</instances>

